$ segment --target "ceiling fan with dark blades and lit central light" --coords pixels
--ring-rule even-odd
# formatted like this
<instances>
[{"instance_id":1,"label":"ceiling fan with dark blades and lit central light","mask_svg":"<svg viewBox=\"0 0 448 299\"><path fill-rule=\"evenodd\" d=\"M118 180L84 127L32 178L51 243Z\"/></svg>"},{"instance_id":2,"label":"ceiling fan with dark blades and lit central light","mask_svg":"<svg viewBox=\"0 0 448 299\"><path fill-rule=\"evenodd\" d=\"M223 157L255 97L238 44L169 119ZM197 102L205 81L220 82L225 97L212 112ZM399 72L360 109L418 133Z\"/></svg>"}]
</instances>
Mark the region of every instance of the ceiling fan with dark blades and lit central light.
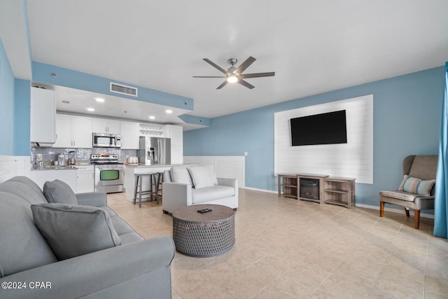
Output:
<instances>
[{"instance_id":1,"label":"ceiling fan with dark blades and lit central light","mask_svg":"<svg viewBox=\"0 0 448 299\"><path fill-rule=\"evenodd\" d=\"M242 74L245 69L247 69L253 62L255 62L255 58L248 57L243 63L239 65L239 67L235 67L235 64L237 64L238 60L237 58L230 58L228 60L230 67L226 71L225 69L218 66L218 64L215 64L214 62L211 62L208 58L204 58L204 61L210 64L212 67L218 69L223 73L225 76L193 76L193 78L225 78L225 81L218 86L218 89L223 88L227 83L239 83L243 86L246 86L246 88L255 88L252 84L248 83L247 81L244 81L246 78L258 78L258 77L270 77L274 76L274 71L269 71L267 73L254 73L254 74Z\"/></svg>"}]
</instances>

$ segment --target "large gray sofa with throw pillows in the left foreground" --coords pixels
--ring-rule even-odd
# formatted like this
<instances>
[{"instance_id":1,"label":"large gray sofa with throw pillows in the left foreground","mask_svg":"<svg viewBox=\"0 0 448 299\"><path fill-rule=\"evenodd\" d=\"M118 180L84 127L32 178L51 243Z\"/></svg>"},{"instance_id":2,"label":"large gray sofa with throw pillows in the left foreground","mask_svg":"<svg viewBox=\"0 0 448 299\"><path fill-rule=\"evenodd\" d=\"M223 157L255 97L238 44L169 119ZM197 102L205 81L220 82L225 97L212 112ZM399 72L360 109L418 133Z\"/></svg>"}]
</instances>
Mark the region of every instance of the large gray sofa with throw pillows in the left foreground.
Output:
<instances>
[{"instance_id":1,"label":"large gray sofa with throw pillows in the left foreground","mask_svg":"<svg viewBox=\"0 0 448 299\"><path fill-rule=\"evenodd\" d=\"M25 176L0 183L0 298L171 298L172 237L144 239L105 193L45 195Z\"/></svg>"}]
</instances>

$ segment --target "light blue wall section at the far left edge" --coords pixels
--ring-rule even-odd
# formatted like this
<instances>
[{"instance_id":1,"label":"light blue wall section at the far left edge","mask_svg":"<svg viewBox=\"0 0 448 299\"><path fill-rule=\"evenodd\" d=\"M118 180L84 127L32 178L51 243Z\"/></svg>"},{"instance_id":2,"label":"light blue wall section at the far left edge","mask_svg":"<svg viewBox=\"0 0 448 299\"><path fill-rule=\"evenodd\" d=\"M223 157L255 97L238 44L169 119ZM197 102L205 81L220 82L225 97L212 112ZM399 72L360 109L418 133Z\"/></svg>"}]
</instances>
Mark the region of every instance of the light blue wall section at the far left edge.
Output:
<instances>
[{"instance_id":1,"label":"light blue wall section at the far left edge","mask_svg":"<svg viewBox=\"0 0 448 299\"><path fill-rule=\"evenodd\" d=\"M14 74L0 39L0 155L14 154ZM29 148L29 146L28 146Z\"/></svg>"}]
</instances>

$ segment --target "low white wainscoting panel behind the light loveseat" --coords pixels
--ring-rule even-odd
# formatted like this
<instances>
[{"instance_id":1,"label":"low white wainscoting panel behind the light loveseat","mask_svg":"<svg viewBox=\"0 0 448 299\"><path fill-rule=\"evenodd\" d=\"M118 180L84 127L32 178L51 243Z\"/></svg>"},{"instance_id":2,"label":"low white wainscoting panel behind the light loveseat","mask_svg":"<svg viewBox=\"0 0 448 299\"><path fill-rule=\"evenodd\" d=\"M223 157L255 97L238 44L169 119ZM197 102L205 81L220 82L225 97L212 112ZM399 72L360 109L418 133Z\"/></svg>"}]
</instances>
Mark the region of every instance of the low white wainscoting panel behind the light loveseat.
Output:
<instances>
[{"instance_id":1,"label":"low white wainscoting panel behind the light loveseat","mask_svg":"<svg viewBox=\"0 0 448 299\"><path fill-rule=\"evenodd\" d=\"M238 179L238 186L244 187L244 156L241 155L195 155L184 156L184 164L214 165L219 178Z\"/></svg>"}]
</instances>

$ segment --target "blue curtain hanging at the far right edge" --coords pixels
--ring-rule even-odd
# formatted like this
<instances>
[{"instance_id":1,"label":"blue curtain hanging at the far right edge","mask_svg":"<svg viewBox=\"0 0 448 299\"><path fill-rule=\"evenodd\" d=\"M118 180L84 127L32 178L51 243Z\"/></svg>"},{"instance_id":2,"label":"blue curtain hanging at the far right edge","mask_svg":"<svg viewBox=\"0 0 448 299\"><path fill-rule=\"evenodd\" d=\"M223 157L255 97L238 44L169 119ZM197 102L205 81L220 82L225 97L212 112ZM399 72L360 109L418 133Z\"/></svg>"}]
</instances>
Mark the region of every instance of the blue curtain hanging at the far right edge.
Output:
<instances>
[{"instance_id":1,"label":"blue curtain hanging at the far right edge","mask_svg":"<svg viewBox=\"0 0 448 299\"><path fill-rule=\"evenodd\" d=\"M434 235L448 238L448 62L444 71L442 118L440 119L439 160L435 175Z\"/></svg>"}]
</instances>

